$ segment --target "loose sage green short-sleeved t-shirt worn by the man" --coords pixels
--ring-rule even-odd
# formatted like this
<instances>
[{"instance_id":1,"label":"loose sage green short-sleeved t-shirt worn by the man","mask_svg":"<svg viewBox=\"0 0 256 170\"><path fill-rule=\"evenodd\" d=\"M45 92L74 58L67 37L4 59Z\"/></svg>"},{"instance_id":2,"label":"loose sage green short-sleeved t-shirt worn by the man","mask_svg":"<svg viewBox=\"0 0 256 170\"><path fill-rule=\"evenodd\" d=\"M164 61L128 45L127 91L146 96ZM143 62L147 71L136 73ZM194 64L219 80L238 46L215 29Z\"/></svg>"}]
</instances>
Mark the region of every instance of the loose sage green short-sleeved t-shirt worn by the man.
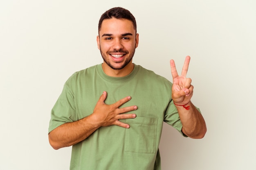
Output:
<instances>
[{"instance_id":1,"label":"loose sage green short-sleeved t-shirt worn by the man","mask_svg":"<svg viewBox=\"0 0 256 170\"><path fill-rule=\"evenodd\" d=\"M129 112L136 118L120 120L129 124L129 129L101 127L72 146L70 170L160 170L163 122L182 133L171 86L166 78L139 65L125 77L106 75L101 64L74 73L52 109L49 132L92 114L103 91L108 93L106 104L131 96L121 107L137 105L138 109Z\"/></svg>"}]
</instances>

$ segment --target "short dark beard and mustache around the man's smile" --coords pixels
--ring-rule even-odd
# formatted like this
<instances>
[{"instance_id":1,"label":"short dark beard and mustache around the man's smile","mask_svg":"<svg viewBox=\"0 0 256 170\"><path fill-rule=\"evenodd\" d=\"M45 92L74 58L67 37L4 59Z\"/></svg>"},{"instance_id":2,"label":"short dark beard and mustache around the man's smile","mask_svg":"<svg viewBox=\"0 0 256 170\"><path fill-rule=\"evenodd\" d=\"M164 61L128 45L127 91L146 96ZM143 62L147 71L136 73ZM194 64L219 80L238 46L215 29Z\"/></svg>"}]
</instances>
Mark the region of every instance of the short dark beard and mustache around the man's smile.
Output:
<instances>
[{"instance_id":1,"label":"short dark beard and mustache around the man's smile","mask_svg":"<svg viewBox=\"0 0 256 170\"><path fill-rule=\"evenodd\" d=\"M134 50L132 51L132 53L130 53L130 55L126 58L126 60L124 61L124 64L119 66L119 67L115 67L114 65L112 65L110 63L110 61L108 60L108 57L101 51L101 48L100 48L100 52L101 52L101 57L103 58L103 60L105 61L105 63L107 63L107 65L112 68L113 70L121 70L123 68L125 68L125 66L130 63L130 61L132 60L133 56L134 56L134 53L135 53L135 48ZM107 55L108 54L111 54L111 53L114 53L114 52L121 52L121 53L124 53L125 55L129 54L128 51L123 51L123 50L114 50L114 51L108 51L107 52ZM116 62L118 63L118 62Z\"/></svg>"}]
</instances>

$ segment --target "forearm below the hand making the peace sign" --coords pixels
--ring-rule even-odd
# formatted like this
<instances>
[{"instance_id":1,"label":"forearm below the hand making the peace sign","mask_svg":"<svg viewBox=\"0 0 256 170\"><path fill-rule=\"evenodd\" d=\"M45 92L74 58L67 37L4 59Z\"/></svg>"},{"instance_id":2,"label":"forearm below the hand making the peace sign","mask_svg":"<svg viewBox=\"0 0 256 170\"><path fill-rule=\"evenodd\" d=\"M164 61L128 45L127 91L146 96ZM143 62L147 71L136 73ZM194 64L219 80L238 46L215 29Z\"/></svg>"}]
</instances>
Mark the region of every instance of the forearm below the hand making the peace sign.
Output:
<instances>
[{"instance_id":1,"label":"forearm below the hand making the peace sign","mask_svg":"<svg viewBox=\"0 0 256 170\"><path fill-rule=\"evenodd\" d=\"M207 131L204 118L192 102L186 106L189 106L188 110L182 106L176 106L182 122L182 132L191 138L203 138Z\"/></svg>"}]
</instances>

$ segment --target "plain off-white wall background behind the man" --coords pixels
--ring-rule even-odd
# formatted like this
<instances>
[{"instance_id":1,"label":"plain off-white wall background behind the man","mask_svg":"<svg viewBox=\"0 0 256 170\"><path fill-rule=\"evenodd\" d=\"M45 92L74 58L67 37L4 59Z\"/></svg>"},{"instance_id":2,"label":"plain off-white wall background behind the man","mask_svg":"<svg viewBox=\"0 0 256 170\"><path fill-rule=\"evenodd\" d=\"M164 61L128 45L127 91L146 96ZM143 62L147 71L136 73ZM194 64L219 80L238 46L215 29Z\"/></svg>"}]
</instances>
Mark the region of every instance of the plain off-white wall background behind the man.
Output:
<instances>
[{"instance_id":1,"label":"plain off-white wall background behind the man","mask_svg":"<svg viewBox=\"0 0 256 170\"><path fill-rule=\"evenodd\" d=\"M102 63L97 26L112 7L136 17L134 63L172 81L169 60L180 72L191 56L208 131L189 139L164 124L162 169L255 170L254 0L1 0L0 169L69 169L71 147L48 143L50 111L71 74Z\"/></svg>"}]
</instances>

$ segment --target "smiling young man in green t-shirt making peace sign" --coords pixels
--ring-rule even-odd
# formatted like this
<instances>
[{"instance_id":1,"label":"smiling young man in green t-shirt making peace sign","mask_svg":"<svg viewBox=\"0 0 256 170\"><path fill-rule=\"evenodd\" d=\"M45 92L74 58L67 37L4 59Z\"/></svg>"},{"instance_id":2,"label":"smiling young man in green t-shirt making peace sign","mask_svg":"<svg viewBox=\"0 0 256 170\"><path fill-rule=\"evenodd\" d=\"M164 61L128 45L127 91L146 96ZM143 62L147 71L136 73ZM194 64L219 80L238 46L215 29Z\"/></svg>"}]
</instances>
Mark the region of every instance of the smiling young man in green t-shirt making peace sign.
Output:
<instances>
[{"instance_id":1,"label":"smiling young man in green t-shirt making peace sign","mask_svg":"<svg viewBox=\"0 0 256 170\"><path fill-rule=\"evenodd\" d=\"M74 73L52 109L49 142L54 149L72 146L71 170L160 170L163 122L191 138L206 133L190 101L190 57L180 76L170 61L172 84L132 63L136 30L128 10L103 13L97 36L103 63Z\"/></svg>"}]
</instances>

